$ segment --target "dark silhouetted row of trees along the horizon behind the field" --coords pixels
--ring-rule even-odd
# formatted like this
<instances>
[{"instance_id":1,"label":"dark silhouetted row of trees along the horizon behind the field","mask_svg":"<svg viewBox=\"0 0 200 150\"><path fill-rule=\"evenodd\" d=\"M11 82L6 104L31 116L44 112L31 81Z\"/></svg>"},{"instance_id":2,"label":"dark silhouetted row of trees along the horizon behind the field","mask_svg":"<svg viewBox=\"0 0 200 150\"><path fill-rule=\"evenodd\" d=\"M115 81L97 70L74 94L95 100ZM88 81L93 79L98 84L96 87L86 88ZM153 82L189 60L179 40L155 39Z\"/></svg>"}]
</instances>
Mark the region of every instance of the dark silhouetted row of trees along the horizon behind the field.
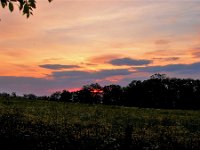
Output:
<instances>
[{"instance_id":1,"label":"dark silhouetted row of trees along the horizon behind the field","mask_svg":"<svg viewBox=\"0 0 200 150\"><path fill-rule=\"evenodd\" d=\"M1 93L0 97L9 99L19 96L15 93ZM63 90L50 96L25 94L21 98L127 107L200 109L200 80L168 78L165 74L154 74L144 81L133 80L126 87L102 87L95 83L85 85L75 92Z\"/></svg>"}]
</instances>

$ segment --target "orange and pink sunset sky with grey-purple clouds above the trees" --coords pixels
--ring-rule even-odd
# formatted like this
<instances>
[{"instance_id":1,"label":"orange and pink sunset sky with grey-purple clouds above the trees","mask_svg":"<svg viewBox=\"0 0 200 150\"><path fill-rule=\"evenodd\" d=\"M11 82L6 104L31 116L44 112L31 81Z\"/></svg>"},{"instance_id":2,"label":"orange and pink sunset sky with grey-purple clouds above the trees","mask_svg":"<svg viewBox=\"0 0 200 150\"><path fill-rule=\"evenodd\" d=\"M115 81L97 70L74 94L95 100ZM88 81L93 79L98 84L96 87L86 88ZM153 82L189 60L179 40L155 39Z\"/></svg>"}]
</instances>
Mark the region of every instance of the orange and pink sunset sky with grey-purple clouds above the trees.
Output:
<instances>
[{"instance_id":1,"label":"orange and pink sunset sky with grey-purple clouds above the trees","mask_svg":"<svg viewBox=\"0 0 200 150\"><path fill-rule=\"evenodd\" d=\"M17 5L0 19L0 92L200 79L200 0L37 0L29 19Z\"/></svg>"}]
</instances>

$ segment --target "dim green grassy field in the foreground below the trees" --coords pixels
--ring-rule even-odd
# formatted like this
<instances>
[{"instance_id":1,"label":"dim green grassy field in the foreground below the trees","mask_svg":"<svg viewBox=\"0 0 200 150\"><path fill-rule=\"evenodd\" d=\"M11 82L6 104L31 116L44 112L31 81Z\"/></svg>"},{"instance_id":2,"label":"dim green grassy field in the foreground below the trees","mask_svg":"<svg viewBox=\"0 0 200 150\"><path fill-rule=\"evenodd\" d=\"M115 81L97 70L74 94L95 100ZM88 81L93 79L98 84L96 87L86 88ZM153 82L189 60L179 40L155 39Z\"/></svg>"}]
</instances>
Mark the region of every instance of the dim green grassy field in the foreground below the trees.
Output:
<instances>
[{"instance_id":1,"label":"dim green grassy field in the foreground below the trees","mask_svg":"<svg viewBox=\"0 0 200 150\"><path fill-rule=\"evenodd\" d=\"M0 99L0 149L200 149L200 111Z\"/></svg>"}]
</instances>

